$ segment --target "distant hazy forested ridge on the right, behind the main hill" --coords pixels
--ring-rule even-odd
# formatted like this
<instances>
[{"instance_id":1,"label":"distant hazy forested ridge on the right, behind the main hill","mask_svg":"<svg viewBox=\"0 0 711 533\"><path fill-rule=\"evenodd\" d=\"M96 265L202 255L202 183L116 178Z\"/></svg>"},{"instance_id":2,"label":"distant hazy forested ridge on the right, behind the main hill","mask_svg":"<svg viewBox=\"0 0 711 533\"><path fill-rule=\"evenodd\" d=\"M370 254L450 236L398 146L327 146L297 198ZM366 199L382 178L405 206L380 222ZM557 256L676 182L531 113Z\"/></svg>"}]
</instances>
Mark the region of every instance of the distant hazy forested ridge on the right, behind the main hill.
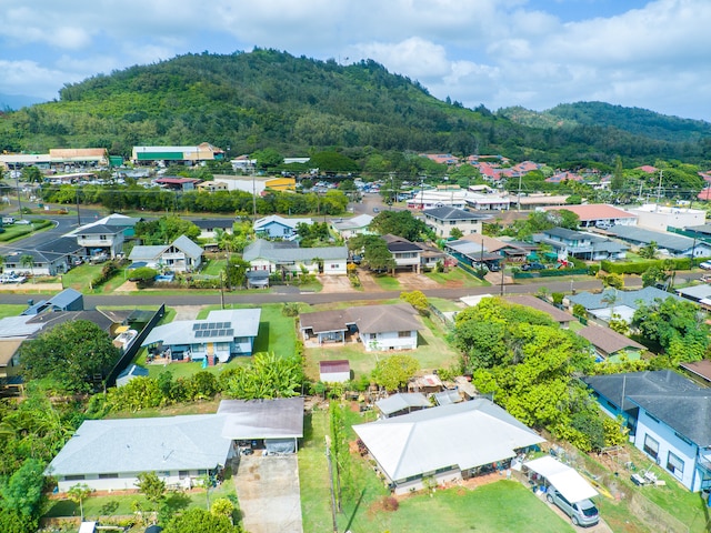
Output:
<instances>
[{"instance_id":1,"label":"distant hazy forested ridge on the right, behind the main hill","mask_svg":"<svg viewBox=\"0 0 711 533\"><path fill-rule=\"evenodd\" d=\"M498 114L533 128L597 125L669 142L695 143L711 137L711 123L703 120L680 119L604 102L561 103L540 113L520 107L505 108Z\"/></svg>"}]
</instances>

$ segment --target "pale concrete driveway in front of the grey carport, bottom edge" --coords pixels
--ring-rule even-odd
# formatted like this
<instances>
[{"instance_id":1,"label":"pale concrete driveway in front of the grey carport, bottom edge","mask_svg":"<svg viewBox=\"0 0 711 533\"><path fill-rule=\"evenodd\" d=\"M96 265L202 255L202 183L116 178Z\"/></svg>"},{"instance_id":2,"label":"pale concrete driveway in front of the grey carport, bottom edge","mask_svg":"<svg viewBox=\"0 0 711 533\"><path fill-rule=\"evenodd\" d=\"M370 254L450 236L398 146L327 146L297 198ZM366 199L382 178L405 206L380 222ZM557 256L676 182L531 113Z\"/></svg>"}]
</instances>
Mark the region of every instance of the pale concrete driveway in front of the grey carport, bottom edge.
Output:
<instances>
[{"instance_id":1,"label":"pale concrete driveway in front of the grey carport, bottom edge","mask_svg":"<svg viewBox=\"0 0 711 533\"><path fill-rule=\"evenodd\" d=\"M234 476L250 533L303 533L297 455L242 455Z\"/></svg>"}]
</instances>

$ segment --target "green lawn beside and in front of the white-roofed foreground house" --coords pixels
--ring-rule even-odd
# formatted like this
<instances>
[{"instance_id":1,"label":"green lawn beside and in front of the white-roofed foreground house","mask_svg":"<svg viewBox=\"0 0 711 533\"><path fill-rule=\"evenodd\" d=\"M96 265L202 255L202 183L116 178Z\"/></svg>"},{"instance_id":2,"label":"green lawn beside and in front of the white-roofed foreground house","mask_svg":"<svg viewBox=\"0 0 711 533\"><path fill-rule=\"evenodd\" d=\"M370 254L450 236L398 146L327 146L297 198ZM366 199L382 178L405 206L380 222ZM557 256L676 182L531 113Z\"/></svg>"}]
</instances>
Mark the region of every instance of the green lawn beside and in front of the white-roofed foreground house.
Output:
<instances>
[{"instance_id":1,"label":"green lawn beside and in front of the white-roofed foreground house","mask_svg":"<svg viewBox=\"0 0 711 533\"><path fill-rule=\"evenodd\" d=\"M350 412L347 423L362 423L360 413ZM316 411L306 423L304 443L299 452L301 512L304 533L331 531L331 507L324 435L328 413ZM351 435L354 435L351 433ZM352 497L337 515L339 531L423 532L477 531L570 532L571 525L555 515L525 486L499 481L475 490L454 487L429 494L400 497L398 511L382 510L387 487L368 462L353 456ZM344 487L347 490L347 487Z\"/></svg>"}]
</instances>

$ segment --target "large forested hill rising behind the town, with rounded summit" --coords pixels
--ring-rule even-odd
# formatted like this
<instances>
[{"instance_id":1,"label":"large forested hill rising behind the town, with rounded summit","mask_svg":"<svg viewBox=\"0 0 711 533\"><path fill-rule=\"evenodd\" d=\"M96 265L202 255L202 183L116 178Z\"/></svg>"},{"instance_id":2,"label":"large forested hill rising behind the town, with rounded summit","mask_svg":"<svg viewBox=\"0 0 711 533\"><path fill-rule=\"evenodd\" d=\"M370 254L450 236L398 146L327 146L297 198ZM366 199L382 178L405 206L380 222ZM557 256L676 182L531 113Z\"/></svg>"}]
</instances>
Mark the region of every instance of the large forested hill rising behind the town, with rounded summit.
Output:
<instances>
[{"instance_id":1,"label":"large forested hill rising behind the town, with rounded summit","mask_svg":"<svg viewBox=\"0 0 711 533\"><path fill-rule=\"evenodd\" d=\"M594 119L592 111L580 114ZM709 138L681 142L624 131L621 122L611 125L614 112L607 114L604 123L579 119L563 128L554 120L519 123L484 107L437 100L373 61L341 66L257 49L180 56L67 84L59 101L1 115L0 149L106 147L126 157L137 144L208 141L229 147L230 155L276 148L284 155L322 149L497 153L551 164L612 163L617 155L640 164L711 159Z\"/></svg>"}]
</instances>

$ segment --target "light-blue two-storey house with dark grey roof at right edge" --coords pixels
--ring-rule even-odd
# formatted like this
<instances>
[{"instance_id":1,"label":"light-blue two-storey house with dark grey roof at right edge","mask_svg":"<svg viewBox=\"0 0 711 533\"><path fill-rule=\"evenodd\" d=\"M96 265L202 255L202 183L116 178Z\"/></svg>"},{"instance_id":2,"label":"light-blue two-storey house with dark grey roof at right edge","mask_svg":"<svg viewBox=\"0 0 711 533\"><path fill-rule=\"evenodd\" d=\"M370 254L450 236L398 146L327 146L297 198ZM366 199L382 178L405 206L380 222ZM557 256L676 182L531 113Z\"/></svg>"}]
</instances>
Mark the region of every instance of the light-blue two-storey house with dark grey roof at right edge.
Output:
<instances>
[{"instance_id":1,"label":"light-blue two-storey house with dark grey roof at right edge","mask_svg":"<svg viewBox=\"0 0 711 533\"><path fill-rule=\"evenodd\" d=\"M711 489L711 389L672 370L582 380L630 441L692 492Z\"/></svg>"}]
</instances>

